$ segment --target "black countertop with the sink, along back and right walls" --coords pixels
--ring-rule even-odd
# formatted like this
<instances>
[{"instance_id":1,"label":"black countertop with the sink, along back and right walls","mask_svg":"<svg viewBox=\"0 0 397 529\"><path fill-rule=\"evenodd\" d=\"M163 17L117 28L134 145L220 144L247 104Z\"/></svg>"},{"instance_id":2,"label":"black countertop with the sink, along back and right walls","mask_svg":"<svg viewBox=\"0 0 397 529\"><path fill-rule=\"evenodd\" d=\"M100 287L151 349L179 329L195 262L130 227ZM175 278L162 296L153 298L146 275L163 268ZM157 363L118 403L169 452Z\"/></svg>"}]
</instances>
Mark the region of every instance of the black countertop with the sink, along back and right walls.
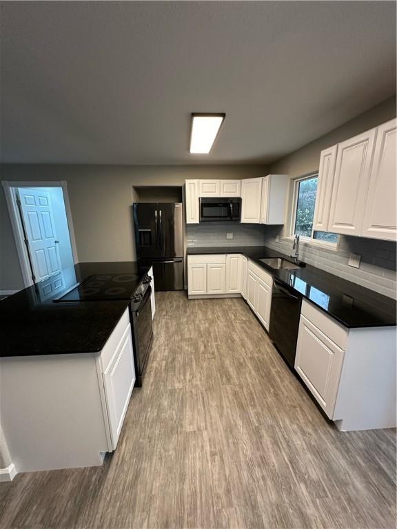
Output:
<instances>
[{"instance_id":1,"label":"black countertop with the sink, along back and right walls","mask_svg":"<svg viewBox=\"0 0 397 529\"><path fill-rule=\"evenodd\" d=\"M188 255L242 253L346 327L396 325L396 301L307 264L292 270L275 270L261 258L289 256L267 247L188 247Z\"/></svg>"}]
</instances>

